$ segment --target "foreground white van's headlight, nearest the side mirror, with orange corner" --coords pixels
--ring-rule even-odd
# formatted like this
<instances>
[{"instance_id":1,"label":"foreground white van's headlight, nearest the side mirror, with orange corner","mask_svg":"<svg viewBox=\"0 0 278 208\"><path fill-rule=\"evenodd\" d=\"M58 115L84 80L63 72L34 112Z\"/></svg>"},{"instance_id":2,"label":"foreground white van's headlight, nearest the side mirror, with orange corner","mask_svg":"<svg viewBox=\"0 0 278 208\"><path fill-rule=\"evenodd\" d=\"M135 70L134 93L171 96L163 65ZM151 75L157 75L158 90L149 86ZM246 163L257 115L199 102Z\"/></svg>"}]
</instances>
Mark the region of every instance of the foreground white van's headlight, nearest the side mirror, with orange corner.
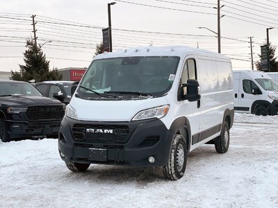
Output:
<instances>
[{"instance_id":1,"label":"foreground white van's headlight, nearest the side mirror, with orange corner","mask_svg":"<svg viewBox=\"0 0 278 208\"><path fill-rule=\"evenodd\" d=\"M163 105L158 107L153 107L147 110L142 110L136 114L132 121L142 120L142 119L152 119L152 118L158 118L161 119L163 116L165 116L169 110L170 105Z\"/></svg>"}]
</instances>

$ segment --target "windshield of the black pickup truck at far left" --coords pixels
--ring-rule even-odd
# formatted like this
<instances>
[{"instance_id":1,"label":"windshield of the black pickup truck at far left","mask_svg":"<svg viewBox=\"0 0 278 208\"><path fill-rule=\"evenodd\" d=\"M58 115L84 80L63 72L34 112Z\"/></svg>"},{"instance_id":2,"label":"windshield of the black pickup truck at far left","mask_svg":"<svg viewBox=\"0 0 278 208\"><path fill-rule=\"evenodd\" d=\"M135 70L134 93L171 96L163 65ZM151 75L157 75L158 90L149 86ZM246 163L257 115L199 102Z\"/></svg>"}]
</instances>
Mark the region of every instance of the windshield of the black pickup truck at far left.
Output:
<instances>
[{"instance_id":1,"label":"windshield of the black pickup truck at far left","mask_svg":"<svg viewBox=\"0 0 278 208\"><path fill-rule=\"evenodd\" d=\"M0 83L0 96L10 95L42 96L30 83Z\"/></svg>"}]
</instances>

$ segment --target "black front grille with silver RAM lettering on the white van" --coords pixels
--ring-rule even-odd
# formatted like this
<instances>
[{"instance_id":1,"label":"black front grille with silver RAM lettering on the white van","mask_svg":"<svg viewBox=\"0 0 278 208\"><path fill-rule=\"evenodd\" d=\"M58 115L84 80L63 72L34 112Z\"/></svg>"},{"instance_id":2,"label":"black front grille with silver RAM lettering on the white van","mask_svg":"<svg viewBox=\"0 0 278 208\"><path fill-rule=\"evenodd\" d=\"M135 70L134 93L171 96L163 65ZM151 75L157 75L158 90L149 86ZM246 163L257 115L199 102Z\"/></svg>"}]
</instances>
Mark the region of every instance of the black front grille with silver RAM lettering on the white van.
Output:
<instances>
[{"instance_id":1,"label":"black front grille with silver RAM lettering on the white van","mask_svg":"<svg viewBox=\"0 0 278 208\"><path fill-rule=\"evenodd\" d=\"M90 132L86 132L90 130ZM113 130L113 133L109 131ZM127 125L86 125L75 124L72 128L75 141L98 144L124 144L129 139Z\"/></svg>"}]
</instances>

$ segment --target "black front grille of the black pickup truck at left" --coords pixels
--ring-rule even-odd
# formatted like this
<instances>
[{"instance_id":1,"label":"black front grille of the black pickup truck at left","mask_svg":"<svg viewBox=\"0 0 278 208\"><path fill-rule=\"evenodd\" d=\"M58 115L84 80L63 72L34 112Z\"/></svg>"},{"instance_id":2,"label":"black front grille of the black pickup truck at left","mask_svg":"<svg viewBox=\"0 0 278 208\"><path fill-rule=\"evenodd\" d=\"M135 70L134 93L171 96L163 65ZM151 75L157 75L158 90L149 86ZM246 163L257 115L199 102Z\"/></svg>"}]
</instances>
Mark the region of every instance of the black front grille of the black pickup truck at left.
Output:
<instances>
[{"instance_id":1,"label":"black front grille of the black pickup truck at left","mask_svg":"<svg viewBox=\"0 0 278 208\"><path fill-rule=\"evenodd\" d=\"M64 116L63 105L42 105L28 107L28 121L61 120Z\"/></svg>"}]
</instances>

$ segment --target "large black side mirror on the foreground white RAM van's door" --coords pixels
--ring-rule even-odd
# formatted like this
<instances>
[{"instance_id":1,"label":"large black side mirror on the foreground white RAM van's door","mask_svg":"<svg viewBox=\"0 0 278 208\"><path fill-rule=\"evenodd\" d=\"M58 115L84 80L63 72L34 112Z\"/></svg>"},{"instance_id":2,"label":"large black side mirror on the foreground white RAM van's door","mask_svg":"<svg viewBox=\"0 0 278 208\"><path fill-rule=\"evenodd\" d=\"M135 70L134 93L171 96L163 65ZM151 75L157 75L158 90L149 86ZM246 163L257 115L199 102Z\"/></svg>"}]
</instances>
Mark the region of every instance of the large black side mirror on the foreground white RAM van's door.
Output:
<instances>
[{"instance_id":1,"label":"large black side mirror on the foreground white RAM van's door","mask_svg":"<svg viewBox=\"0 0 278 208\"><path fill-rule=\"evenodd\" d=\"M189 102L199 101L201 96L199 94L199 82L197 80L187 80L186 84L182 84L183 98Z\"/></svg>"}]
</instances>

